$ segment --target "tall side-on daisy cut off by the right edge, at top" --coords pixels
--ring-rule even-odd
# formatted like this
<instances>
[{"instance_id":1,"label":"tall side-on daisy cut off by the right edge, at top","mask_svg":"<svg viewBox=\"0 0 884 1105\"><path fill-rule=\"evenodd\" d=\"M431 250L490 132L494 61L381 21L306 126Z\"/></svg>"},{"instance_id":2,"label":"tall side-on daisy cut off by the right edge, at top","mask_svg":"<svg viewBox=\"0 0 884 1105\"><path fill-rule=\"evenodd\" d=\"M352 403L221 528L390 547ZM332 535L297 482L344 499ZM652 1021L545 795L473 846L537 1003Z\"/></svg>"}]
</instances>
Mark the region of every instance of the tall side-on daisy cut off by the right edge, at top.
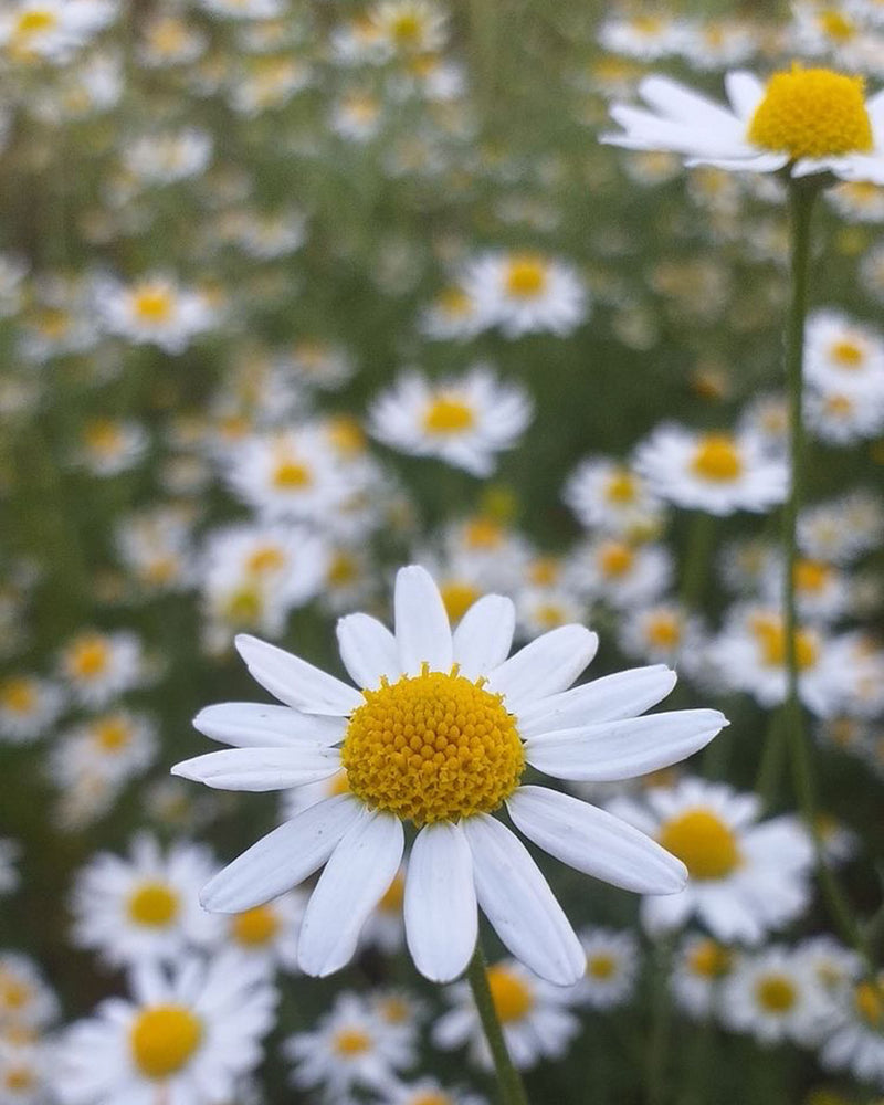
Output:
<instances>
[{"instance_id":1,"label":"tall side-on daisy cut off by the right edge, at top","mask_svg":"<svg viewBox=\"0 0 884 1105\"><path fill-rule=\"evenodd\" d=\"M602 141L673 150L688 165L884 183L884 94L866 99L861 77L796 64L767 84L728 73L725 90L727 106L669 77L645 77L639 95L648 107L614 105L623 129Z\"/></svg>"}]
</instances>

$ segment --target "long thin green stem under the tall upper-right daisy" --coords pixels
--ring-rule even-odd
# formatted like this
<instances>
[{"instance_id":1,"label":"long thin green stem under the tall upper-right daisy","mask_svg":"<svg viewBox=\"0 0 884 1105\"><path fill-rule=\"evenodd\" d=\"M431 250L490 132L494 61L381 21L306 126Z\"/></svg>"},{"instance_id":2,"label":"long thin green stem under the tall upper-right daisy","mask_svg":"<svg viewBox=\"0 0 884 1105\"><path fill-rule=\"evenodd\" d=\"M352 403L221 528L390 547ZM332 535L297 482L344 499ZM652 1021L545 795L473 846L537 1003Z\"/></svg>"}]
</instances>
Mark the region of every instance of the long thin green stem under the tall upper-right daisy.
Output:
<instances>
[{"instance_id":1,"label":"long thin green stem under the tall upper-right daisy","mask_svg":"<svg viewBox=\"0 0 884 1105\"><path fill-rule=\"evenodd\" d=\"M791 232L792 298L786 330L786 388L789 408L789 459L791 483L782 512L782 548L785 559L783 636L786 642L786 701L782 705L782 727L789 748L792 782L804 823L813 840L820 887L841 936L870 961L863 935L848 902L825 862L823 842L817 815L815 783L810 745L804 733L804 718L798 696L798 649L796 633L794 567L798 559L796 537L798 514L804 481L803 360L804 327L810 283L810 225L820 186L812 179L791 180L789 215Z\"/></svg>"}]
</instances>

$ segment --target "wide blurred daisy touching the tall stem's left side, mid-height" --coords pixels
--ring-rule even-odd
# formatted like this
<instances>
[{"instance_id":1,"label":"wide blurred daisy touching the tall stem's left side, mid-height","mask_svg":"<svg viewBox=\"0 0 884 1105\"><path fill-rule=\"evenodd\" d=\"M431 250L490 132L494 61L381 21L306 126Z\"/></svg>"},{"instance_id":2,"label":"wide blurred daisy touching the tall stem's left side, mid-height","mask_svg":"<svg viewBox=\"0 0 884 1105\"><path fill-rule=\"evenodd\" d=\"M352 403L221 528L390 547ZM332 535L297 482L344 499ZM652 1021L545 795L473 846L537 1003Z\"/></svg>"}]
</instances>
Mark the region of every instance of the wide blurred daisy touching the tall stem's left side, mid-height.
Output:
<instances>
[{"instance_id":1,"label":"wide blurred daisy touching the tall stem's left side, mid-height","mask_svg":"<svg viewBox=\"0 0 884 1105\"><path fill-rule=\"evenodd\" d=\"M727 515L783 502L789 473L753 436L659 425L635 450L635 471L651 492L676 506Z\"/></svg>"}]
</instances>

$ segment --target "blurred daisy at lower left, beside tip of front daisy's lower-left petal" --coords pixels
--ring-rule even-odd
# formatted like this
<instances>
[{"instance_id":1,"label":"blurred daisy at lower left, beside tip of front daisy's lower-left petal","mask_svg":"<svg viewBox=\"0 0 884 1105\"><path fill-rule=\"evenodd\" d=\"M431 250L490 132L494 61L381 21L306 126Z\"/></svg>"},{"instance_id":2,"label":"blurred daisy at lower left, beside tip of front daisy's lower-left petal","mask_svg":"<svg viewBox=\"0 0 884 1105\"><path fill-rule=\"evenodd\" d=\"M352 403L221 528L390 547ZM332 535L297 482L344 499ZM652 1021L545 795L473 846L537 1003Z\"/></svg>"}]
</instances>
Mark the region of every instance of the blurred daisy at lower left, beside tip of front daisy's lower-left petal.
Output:
<instances>
[{"instance_id":1,"label":"blurred daisy at lower left, beside tip of front daisy's lower-left petal","mask_svg":"<svg viewBox=\"0 0 884 1105\"><path fill-rule=\"evenodd\" d=\"M207 849L179 842L164 855L147 834L135 838L127 859L97 853L74 885L73 941L112 966L171 962L207 946L222 922L200 906L197 888L215 870Z\"/></svg>"}]
</instances>

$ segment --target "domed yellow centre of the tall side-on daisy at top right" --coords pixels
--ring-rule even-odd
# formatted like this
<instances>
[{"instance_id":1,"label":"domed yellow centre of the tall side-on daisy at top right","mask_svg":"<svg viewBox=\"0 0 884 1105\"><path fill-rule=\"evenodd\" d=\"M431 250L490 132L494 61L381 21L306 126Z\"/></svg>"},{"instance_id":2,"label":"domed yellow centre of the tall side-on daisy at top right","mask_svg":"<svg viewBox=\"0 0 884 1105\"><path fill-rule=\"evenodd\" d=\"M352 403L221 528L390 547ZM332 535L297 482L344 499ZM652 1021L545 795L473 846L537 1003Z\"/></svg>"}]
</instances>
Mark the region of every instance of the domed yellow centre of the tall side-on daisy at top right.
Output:
<instances>
[{"instance_id":1,"label":"domed yellow centre of the tall side-on daisy at top right","mask_svg":"<svg viewBox=\"0 0 884 1105\"><path fill-rule=\"evenodd\" d=\"M775 73L755 109L747 138L793 160L867 154L873 147L872 124L862 77L798 65L788 73Z\"/></svg>"}]
</instances>

